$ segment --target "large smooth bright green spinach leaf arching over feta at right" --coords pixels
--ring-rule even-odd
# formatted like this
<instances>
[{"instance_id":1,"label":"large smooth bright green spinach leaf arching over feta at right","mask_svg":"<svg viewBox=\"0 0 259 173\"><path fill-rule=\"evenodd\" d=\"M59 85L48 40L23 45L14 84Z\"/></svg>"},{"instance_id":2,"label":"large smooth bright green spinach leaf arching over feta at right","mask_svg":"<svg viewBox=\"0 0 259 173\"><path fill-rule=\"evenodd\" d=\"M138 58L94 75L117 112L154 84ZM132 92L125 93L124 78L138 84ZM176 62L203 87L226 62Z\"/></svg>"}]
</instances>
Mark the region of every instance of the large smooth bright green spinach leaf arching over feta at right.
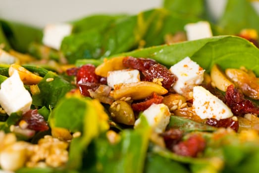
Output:
<instances>
[{"instance_id":1,"label":"large smooth bright green spinach leaf arching over feta at right","mask_svg":"<svg viewBox=\"0 0 259 173\"><path fill-rule=\"evenodd\" d=\"M155 59L168 67L189 56L207 72L213 64L221 68L240 68L254 70L259 76L259 49L249 41L235 36L217 36L196 41L161 45L138 49L115 56L133 56ZM249 61L248 61L249 59Z\"/></svg>"}]
</instances>

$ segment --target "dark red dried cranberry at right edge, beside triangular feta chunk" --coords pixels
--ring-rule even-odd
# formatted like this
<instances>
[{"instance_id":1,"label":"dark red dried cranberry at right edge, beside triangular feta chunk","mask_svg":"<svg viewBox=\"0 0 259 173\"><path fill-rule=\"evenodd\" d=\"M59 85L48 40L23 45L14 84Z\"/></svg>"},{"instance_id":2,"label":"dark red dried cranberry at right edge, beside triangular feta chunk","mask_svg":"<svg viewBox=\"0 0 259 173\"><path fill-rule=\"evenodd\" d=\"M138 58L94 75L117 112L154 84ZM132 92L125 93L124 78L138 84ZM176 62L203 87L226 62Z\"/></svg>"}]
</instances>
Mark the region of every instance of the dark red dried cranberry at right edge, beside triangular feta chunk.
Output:
<instances>
[{"instance_id":1,"label":"dark red dried cranberry at right edge, beside triangular feta chunk","mask_svg":"<svg viewBox=\"0 0 259 173\"><path fill-rule=\"evenodd\" d=\"M244 95L233 85L227 87L226 104L236 116L243 116L247 113L259 115L259 107L251 100L245 99Z\"/></svg>"}]
</instances>

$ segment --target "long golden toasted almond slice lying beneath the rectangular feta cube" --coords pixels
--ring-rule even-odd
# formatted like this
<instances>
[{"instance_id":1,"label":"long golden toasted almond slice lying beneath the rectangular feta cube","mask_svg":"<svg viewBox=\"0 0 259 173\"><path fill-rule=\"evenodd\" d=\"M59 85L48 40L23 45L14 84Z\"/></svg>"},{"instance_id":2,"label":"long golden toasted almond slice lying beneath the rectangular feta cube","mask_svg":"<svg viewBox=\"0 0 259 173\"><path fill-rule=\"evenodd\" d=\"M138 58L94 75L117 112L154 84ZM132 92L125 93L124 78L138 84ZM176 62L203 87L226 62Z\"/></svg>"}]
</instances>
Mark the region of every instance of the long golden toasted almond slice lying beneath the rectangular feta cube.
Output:
<instances>
[{"instance_id":1,"label":"long golden toasted almond slice lying beneath the rectangular feta cube","mask_svg":"<svg viewBox=\"0 0 259 173\"><path fill-rule=\"evenodd\" d=\"M157 93L158 95L163 95L168 91L164 87L153 82L141 81L137 83L115 85L114 90L110 93L110 95L114 99L131 97L133 100L139 100L146 98L153 92Z\"/></svg>"}]
</instances>

